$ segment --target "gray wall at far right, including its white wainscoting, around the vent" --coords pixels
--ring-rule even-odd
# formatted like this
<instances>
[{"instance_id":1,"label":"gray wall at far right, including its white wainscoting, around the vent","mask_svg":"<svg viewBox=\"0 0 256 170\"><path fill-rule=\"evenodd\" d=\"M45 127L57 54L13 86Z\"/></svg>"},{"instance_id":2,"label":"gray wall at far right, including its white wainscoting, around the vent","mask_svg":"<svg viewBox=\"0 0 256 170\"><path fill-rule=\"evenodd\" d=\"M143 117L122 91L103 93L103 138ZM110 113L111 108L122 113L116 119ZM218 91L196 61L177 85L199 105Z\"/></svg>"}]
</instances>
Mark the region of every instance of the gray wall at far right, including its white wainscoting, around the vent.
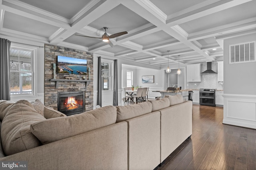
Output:
<instances>
[{"instance_id":1,"label":"gray wall at far right, including its white wainscoting, around the vent","mask_svg":"<svg viewBox=\"0 0 256 170\"><path fill-rule=\"evenodd\" d=\"M229 45L255 41L256 34L224 40L223 123L256 129L256 62L229 64Z\"/></svg>"}]
</instances>

